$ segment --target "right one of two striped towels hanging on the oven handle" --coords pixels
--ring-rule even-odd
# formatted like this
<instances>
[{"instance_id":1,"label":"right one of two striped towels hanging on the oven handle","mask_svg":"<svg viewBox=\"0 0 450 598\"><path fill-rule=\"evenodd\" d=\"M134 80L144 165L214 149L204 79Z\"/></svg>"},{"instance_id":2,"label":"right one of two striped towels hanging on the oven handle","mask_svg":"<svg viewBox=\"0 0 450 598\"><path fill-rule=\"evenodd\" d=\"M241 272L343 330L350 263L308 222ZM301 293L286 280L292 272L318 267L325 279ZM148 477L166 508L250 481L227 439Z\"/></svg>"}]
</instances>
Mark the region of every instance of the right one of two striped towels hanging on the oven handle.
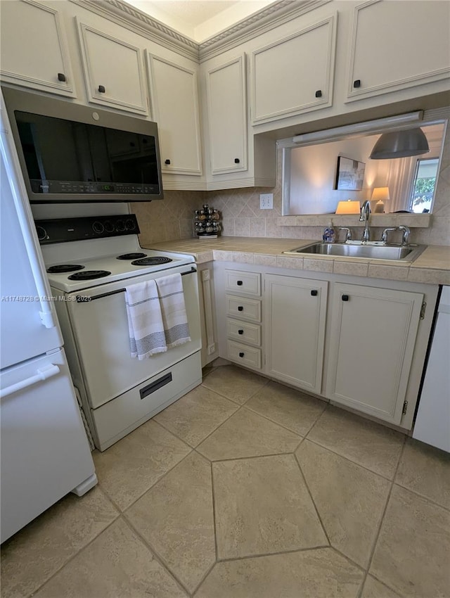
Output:
<instances>
[{"instance_id":1,"label":"right one of two striped towels hanging on the oven handle","mask_svg":"<svg viewBox=\"0 0 450 598\"><path fill-rule=\"evenodd\" d=\"M189 336L181 274L162 276L155 282L158 286L167 348L188 343L191 341L191 336Z\"/></svg>"}]
</instances>

